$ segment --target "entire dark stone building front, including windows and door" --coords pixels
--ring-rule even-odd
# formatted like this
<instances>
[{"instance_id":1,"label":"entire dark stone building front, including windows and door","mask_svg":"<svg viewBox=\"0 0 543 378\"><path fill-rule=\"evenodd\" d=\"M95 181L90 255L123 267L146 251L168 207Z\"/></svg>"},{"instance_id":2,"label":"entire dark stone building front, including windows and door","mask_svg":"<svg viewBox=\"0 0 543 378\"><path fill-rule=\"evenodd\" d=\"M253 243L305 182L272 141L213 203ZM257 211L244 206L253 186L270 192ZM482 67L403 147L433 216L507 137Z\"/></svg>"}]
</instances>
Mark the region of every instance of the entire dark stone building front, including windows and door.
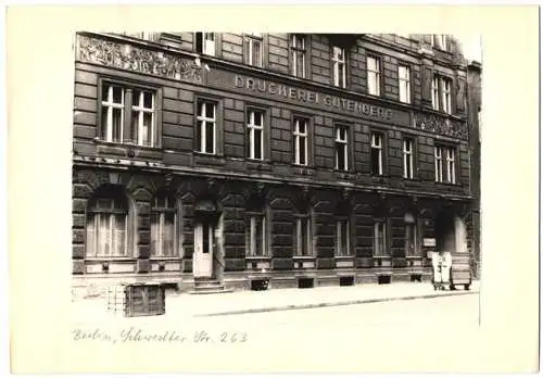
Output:
<instances>
[{"instance_id":1,"label":"entire dark stone building front, including windows and door","mask_svg":"<svg viewBox=\"0 0 543 378\"><path fill-rule=\"evenodd\" d=\"M452 36L75 45L76 292L427 280L431 251L479 255L480 70Z\"/></svg>"}]
</instances>

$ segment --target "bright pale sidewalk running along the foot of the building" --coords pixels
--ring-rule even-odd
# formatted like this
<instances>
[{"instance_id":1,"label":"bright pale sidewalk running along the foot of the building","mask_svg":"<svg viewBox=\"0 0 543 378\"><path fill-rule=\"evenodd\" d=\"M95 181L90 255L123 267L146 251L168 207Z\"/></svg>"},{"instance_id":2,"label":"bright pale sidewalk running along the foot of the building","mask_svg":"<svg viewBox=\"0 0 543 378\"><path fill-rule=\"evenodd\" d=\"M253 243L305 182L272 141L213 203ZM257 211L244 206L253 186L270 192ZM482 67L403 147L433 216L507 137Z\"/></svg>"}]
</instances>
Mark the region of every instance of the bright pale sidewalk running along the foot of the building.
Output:
<instances>
[{"instance_id":1,"label":"bright pale sidewalk running along the foot of the building","mask_svg":"<svg viewBox=\"0 0 543 378\"><path fill-rule=\"evenodd\" d=\"M434 291L430 282L364 284L352 287L317 287L312 289L270 289L266 291L235 291L218 294L167 294L166 314L160 317L186 318L219 315L314 308L394 300L479 293L480 282L473 281L469 291ZM109 318L105 299L74 302L73 316L78 320ZM156 317L155 317L156 318Z\"/></svg>"}]
</instances>

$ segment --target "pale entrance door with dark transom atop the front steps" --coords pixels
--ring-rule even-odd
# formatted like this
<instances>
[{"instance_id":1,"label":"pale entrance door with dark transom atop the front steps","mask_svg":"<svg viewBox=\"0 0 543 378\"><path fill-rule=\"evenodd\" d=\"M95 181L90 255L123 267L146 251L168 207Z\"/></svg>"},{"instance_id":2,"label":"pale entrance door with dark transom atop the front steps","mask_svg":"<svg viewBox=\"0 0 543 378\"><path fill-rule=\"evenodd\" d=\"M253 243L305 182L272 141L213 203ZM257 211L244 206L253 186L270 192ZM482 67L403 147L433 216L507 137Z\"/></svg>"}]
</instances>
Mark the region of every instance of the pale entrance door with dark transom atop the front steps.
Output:
<instances>
[{"instance_id":1,"label":"pale entrance door with dark transom atop the front steps","mask_svg":"<svg viewBox=\"0 0 543 378\"><path fill-rule=\"evenodd\" d=\"M202 219L194 226L194 277L213 277L216 223Z\"/></svg>"}]
</instances>

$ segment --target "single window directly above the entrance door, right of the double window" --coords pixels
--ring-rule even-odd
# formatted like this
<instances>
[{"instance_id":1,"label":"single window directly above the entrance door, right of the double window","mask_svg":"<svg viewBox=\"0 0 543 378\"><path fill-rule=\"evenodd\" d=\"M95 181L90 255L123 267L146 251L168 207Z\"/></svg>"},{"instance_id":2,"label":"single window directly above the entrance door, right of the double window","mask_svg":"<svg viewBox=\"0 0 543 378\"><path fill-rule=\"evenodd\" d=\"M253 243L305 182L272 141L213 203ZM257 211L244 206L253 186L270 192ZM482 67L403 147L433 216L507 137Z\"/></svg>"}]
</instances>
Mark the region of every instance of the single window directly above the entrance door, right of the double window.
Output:
<instances>
[{"instance_id":1,"label":"single window directly above the entrance door, right of the double window","mask_svg":"<svg viewBox=\"0 0 543 378\"><path fill-rule=\"evenodd\" d=\"M215 153L217 104L207 100L198 100L197 114L197 151Z\"/></svg>"}]
</instances>

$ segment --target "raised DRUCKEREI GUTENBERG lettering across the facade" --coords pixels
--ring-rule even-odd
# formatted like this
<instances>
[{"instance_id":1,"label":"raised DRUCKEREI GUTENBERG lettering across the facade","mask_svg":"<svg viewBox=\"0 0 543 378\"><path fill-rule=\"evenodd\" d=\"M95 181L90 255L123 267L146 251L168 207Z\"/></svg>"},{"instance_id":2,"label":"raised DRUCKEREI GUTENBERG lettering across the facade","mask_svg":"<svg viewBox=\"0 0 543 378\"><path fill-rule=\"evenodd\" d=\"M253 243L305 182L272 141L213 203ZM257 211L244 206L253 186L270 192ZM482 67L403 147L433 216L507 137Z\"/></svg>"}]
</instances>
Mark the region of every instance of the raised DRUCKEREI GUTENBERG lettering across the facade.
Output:
<instances>
[{"instance_id":1,"label":"raised DRUCKEREI GUTENBERG lettering across the facade","mask_svg":"<svg viewBox=\"0 0 543 378\"><path fill-rule=\"evenodd\" d=\"M366 116L392 119L392 110L364 102L349 100L337 96L324 94L312 90L305 90L282 84L276 84L264 79L254 79L242 75L235 76L236 88L278 96L293 101L320 104L327 108L336 108L342 111L364 114Z\"/></svg>"}]
</instances>

